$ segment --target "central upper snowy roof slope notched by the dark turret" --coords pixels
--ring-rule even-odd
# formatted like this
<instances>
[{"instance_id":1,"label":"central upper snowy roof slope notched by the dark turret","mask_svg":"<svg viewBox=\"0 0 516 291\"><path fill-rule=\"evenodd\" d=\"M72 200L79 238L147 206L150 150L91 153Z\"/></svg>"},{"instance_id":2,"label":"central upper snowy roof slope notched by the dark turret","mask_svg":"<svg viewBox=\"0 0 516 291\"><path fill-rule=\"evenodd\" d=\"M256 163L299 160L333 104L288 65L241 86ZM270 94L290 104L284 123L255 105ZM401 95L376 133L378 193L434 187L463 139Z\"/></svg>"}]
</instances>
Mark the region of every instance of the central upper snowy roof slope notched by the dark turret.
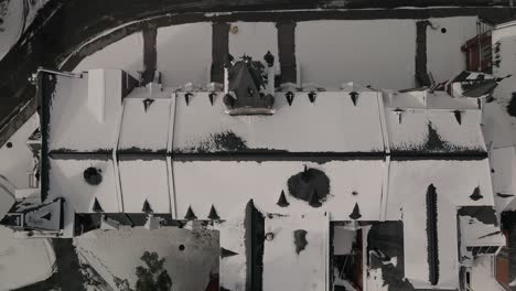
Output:
<instances>
[{"instance_id":1,"label":"central upper snowy roof slope notched by the dark turret","mask_svg":"<svg viewBox=\"0 0 516 291\"><path fill-rule=\"evenodd\" d=\"M384 151L378 93L359 93L356 106L348 91L294 93L289 106L276 94L272 116L228 116L223 96L208 93L176 98L174 152L378 152ZM368 134L363 134L368 132Z\"/></svg>"}]
</instances>

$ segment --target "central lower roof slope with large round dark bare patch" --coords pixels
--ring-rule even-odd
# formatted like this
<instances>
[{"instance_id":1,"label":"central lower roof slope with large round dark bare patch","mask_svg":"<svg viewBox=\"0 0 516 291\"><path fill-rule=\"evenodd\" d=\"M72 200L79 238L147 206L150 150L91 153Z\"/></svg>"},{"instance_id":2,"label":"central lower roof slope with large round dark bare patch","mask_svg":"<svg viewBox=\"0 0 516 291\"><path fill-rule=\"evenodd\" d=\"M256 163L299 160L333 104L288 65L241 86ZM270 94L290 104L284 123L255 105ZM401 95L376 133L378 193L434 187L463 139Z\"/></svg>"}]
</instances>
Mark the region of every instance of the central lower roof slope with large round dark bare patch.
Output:
<instances>
[{"instance_id":1,"label":"central lower roof slope with large round dark bare patch","mask_svg":"<svg viewBox=\"0 0 516 291\"><path fill-rule=\"evenodd\" d=\"M289 191L288 180L304 165L324 172L330 193L320 207L298 200ZM254 200L267 213L331 213L332 220L351 220L355 205L362 217L379 220L384 160L332 161L324 164L300 161L194 161L174 162L174 190L178 218L192 208L198 219L207 219L214 205L221 217L230 217ZM287 207L277 205L284 192ZM322 193L324 194L324 193ZM228 203L230 202L230 203Z\"/></svg>"}]
</instances>

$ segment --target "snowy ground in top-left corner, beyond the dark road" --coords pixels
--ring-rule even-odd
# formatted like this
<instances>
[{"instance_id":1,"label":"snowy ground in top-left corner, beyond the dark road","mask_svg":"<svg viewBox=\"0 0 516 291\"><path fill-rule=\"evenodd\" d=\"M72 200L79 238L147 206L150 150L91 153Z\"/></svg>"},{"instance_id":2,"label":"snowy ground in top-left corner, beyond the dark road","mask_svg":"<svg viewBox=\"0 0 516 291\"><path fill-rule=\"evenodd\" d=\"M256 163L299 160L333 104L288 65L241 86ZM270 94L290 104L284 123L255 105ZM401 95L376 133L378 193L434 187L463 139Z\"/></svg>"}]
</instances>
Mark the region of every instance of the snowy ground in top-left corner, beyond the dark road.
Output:
<instances>
[{"instance_id":1,"label":"snowy ground in top-left corner, beyond the dark road","mask_svg":"<svg viewBox=\"0 0 516 291\"><path fill-rule=\"evenodd\" d=\"M0 1L0 60L18 42L49 0Z\"/></svg>"}]
</instances>

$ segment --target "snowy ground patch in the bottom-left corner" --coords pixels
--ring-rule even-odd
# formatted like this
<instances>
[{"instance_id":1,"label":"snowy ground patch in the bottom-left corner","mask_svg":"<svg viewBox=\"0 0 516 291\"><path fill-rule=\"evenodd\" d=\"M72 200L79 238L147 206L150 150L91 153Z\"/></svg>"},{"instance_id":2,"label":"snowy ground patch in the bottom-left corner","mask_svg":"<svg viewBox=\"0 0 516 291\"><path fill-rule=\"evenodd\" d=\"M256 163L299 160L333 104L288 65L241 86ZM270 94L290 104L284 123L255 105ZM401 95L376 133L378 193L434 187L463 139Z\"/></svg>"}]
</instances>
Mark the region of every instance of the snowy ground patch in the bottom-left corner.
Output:
<instances>
[{"instance_id":1,"label":"snowy ground patch in the bottom-left corner","mask_svg":"<svg viewBox=\"0 0 516 291\"><path fill-rule=\"evenodd\" d=\"M54 250L47 239L13 238L0 226L0 290L11 290L45 280L53 272Z\"/></svg>"}]
</instances>

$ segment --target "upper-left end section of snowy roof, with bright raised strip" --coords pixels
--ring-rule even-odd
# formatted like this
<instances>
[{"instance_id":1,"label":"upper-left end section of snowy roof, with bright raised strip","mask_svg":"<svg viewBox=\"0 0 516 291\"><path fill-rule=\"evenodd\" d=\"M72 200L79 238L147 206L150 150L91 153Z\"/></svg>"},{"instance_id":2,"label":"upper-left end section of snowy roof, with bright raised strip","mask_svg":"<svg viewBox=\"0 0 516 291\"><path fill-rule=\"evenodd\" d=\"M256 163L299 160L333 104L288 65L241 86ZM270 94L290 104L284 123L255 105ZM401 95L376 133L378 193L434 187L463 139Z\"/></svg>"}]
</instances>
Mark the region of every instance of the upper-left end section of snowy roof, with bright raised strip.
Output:
<instances>
[{"instance_id":1,"label":"upper-left end section of snowy roof, with bright raised strip","mask_svg":"<svg viewBox=\"0 0 516 291\"><path fill-rule=\"evenodd\" d=\"M89 71L80 78L44 75L55 80L46 120L50 151L112 149L122 105L121 71Z\"/></svg>"}]
</instances>

